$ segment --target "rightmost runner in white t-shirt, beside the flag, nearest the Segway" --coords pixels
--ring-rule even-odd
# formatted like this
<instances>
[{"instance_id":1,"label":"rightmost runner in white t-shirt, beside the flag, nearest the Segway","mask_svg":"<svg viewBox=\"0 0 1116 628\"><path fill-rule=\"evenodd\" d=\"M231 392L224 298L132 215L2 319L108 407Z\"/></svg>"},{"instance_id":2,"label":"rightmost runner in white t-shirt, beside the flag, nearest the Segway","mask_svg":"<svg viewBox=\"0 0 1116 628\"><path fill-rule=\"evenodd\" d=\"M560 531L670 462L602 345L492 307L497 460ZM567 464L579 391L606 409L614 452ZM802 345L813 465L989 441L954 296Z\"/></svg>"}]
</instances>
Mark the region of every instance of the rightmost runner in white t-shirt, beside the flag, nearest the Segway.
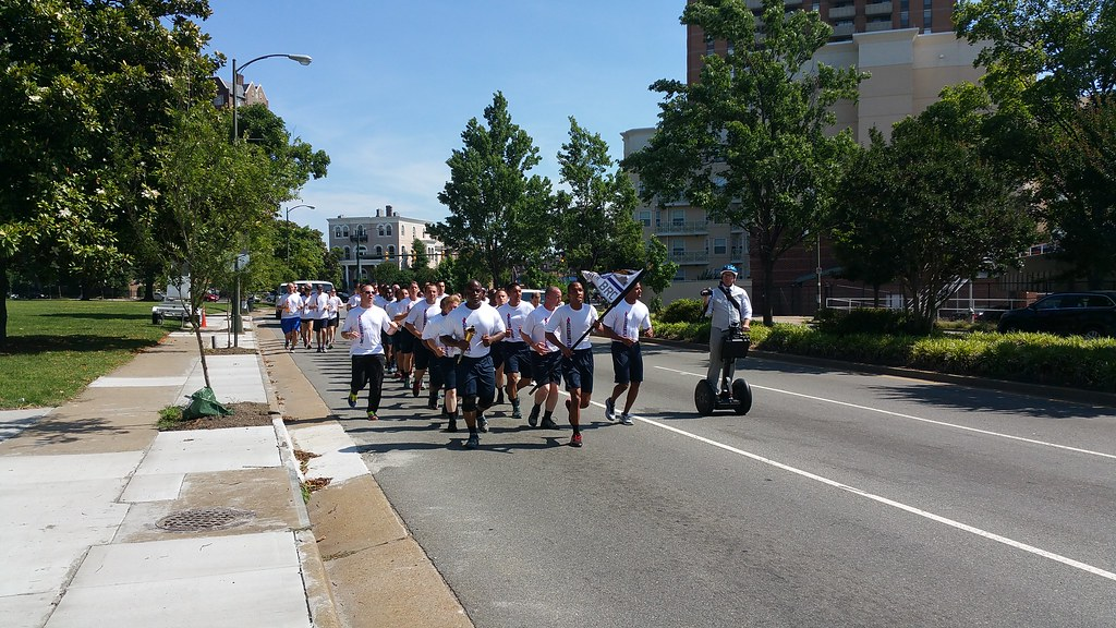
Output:
<instances>
[{"instance_id":1,"label":"rightmost runner in white t-shirt, beside the flag, nearest the Segway","mask_svg":"<svg viewBox=\"0 0 1116 628\"><path fill-rule=\"evenodd\" d=\"M643 351L639 348L639 332L654 337L651 329L651 311L644 305L639 297L643 295L643 286L636 282L632 291L625 295L624 301L616 304L602 320L604 334L613 339L613 371L616 373L616 386L613 393L605 399L605 418L616 420L616 400L619 399L624 390L627 397L624 400L624 411L620 413L620 422L632 425L632 406L639 394L639 383L643 382ZM631 388L628 384L631 383Z\"/></svg>"}]
</instances>

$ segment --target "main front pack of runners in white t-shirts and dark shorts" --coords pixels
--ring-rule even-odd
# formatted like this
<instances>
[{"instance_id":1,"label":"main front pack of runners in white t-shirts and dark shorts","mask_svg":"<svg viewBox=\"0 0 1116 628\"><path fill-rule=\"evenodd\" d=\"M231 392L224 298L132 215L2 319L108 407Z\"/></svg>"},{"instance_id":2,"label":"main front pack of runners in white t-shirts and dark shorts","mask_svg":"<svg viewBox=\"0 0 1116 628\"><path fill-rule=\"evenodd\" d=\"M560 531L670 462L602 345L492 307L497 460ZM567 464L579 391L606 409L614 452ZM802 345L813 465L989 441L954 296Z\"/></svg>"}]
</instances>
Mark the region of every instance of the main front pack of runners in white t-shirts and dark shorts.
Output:
<instances>
[{"instance_id":1,"label":"main front pack of runners in white t-shirts and dark shorts","mask_svg":"<svg viewBox=\"0 0 1116 628\"><path fill-rule=\"evenodd\" d=\"M446 294L441 282L421 291L416 283L359 285L341 327L341 337L350 342L348 405L356 408L367 388L367 418L377 420L385 377L394 374L413 397L425 390L429 409L441 406L446 431L456 432L463 419L469 431L464 446L475 448L480 434L489 430L485 412L493 406L507 401L510 418L522 419L522 391L528 387L533 387L528 425L560 429L554 411L558 387L565 383L574 431L569 445L580 447L581 411L593 394L589 332L612 340L616 384L605 400L605 417L632 425L629 412L643 381L639 337L653 334L641 295L637 284L599 318L580 282L566 287L565 303L559 287L548 287L538 306L523 298L522 286L514 282L490 291L471 280L460 295ZM616 412L625 391L623 411Z\"/></svg>"}]
</instances>

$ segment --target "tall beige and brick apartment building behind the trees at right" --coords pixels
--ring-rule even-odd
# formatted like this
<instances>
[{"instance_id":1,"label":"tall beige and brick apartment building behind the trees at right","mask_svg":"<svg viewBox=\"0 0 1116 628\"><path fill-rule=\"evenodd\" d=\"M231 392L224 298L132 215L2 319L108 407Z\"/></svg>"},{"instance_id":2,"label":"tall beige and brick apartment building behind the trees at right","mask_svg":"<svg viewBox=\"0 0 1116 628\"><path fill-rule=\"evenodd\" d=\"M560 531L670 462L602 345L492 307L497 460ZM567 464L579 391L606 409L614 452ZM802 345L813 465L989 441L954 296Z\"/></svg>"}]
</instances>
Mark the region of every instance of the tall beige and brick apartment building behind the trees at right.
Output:
<instances>
[{"instance_id":1,"label":"tall beige and brick apartment building behind the trees at right","mask_svg":"<svg viewBox=\"0 0 1116 628\"><path fill-rule=\"evenodd\" d=\"M748 0L748 6L759 15L759 0ZM859 142L868 141L872 127L889 136L894 123L922 113L937 99L943 87L977 82L983 74L973 67L979 48L953 34L950 0L783 0L783 6L788 11L816 10L834 27L833 37L812 63L856 66L872 74L860 84L856 104L839 103L835 110L837 129L852 129ZM700 28L687 27L687 82L693 84L699 79L702 58L723 55L730 45L705 37ZM624 155L645 146L653 133L654 129L622 133ZM636 219L644 225L644 236L662 240L671 259L680 265L677 282L705 280L729 263L741 267L742 278L751 277L751 269L759 268L759 260L750 257L747 231L710 221L701 208L683 203L663 208L641 206ZM834 280L829 275L836 267L824 240L820 256L817 241L789 250L776 266L776 292L770 295L776 314L810 315L817 308L819 295L824 303L829 296L863 289ZM760 305L769 297L745 288L753 304ZM690 286L668 291L664 301L671 301L675 292L689 296L694 289Z\"/></svg>"}]
</instances>

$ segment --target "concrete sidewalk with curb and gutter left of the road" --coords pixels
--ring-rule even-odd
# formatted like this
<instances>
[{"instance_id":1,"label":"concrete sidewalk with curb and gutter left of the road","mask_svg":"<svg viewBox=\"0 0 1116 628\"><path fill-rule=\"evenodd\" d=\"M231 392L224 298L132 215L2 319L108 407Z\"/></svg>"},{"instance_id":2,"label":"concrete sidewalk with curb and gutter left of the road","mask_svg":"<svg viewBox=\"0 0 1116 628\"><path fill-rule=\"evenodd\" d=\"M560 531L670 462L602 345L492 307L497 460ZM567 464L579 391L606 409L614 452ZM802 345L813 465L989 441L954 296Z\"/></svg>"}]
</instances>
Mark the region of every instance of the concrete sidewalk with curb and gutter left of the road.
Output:
<instances>
[{"instance_id":1,"label":"concrete sidewalk with curb and gutter left of the road","mask_svg":"<svg viewBox=\"0 0 1116 628\"><path fill-rule=\"evenodd\" d=\"M208 334L225 346L221 323L210 320ZM248 327L239 344L254 350ZM299 379L309 388L276 353L271 370L294 381L285 388L298 390ZM155 429L158 410L203 386L189 333L171 334L60 408L0 412L0 626L469 626L321 400L291 400L311 424L292 438L259 351L206 361L219 400L267 402L272 425ZM333 583L296 446L320 455L311 474L331 478L311 505L337 561ZM372 598L352 594L362 578L341 561L355 554L375 570L364 580L383 583Z\"/></svg>"}]
</instances>

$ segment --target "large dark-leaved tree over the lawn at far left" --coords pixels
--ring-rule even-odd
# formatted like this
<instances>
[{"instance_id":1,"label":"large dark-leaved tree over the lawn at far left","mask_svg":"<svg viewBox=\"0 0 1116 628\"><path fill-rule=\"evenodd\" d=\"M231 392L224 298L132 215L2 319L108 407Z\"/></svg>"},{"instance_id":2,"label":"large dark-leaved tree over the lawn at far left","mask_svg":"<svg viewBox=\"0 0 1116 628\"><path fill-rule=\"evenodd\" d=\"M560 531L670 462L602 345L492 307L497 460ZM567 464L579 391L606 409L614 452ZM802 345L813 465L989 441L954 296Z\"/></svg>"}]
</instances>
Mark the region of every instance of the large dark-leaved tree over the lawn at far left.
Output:
<instances>
[{"instance_id":1,"label":"large dark-leaved tree over the lawn at far left","mask_svg":"<svg viewBox=\"0 0 1116 628\"><path fill-rule=\"evenodd\" d=\"M205 0L0 3L0 344L10 269L128 261L128 208L153 204L142 159L170 111L210 98L214 63L189 19L209 15Z\"/></svg>"}]
</instances>

